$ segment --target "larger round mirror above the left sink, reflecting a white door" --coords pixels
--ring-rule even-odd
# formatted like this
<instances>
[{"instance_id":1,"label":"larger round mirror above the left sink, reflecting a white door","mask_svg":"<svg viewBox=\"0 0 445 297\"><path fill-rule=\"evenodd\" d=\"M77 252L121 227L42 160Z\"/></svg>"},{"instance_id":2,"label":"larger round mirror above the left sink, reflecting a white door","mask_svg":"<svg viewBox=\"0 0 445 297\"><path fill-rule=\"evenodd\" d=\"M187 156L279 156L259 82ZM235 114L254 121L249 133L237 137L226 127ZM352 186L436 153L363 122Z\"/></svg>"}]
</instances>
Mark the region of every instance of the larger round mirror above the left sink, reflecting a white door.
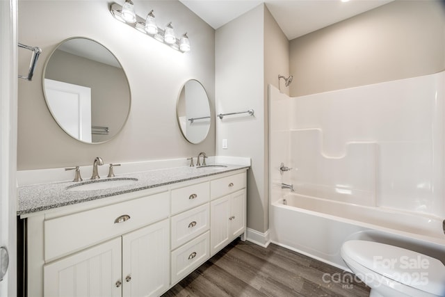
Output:
<instances>
[{"instance_id":1,"label":"larger round mirror above the left sink, reflecting a white door","mask_svg":"<svg viewBox=\"0 0 445 297\"><path fill-rule=\"evenodd\" d=\"M129 115L127 75L111 51L95 40L63 40L44 66L43 90L57 124L84 143L110 140Z\"/></svg>"}]
</instances>

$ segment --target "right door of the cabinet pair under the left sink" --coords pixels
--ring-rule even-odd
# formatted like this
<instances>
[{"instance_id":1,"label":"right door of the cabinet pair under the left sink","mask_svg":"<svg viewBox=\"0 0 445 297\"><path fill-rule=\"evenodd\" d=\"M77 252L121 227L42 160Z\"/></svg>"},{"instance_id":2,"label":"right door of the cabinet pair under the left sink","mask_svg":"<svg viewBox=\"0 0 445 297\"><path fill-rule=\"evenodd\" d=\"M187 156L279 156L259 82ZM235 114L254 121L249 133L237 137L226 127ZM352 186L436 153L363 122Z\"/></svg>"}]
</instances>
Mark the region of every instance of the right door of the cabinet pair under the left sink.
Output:
<instances>
[{"instance_id":1,"label":"right door of the cabinet pair under the left sink","mask_svg":"<svg viewBox=\"0 0 445 297\"><path fill-rule=\"evenodd\" d=\"M122 236L124 296L159 296L170 284L169 220Z\"/></svg>"}]
</instances>

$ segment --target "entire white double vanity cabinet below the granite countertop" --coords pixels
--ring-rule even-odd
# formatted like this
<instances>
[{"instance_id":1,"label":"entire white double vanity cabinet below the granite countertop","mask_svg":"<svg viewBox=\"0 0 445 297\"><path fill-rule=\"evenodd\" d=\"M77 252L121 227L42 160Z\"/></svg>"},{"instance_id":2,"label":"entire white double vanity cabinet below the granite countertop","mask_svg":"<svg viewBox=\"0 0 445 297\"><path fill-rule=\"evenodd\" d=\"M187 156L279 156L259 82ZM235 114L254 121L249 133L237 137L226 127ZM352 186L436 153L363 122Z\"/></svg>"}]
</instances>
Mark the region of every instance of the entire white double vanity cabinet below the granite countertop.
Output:
<instances>
[{"instance_id":1,"label":"entire white double vanity cabinet below the granite countertop","mask_svg":"<svg viewBox=\"0 0 445 297\"><path fill-rule=\"evenodd\" d=\"M27 294L160 296L245 233L245 203L243 169L22 216Z\"/></svg>"}]
</instances>

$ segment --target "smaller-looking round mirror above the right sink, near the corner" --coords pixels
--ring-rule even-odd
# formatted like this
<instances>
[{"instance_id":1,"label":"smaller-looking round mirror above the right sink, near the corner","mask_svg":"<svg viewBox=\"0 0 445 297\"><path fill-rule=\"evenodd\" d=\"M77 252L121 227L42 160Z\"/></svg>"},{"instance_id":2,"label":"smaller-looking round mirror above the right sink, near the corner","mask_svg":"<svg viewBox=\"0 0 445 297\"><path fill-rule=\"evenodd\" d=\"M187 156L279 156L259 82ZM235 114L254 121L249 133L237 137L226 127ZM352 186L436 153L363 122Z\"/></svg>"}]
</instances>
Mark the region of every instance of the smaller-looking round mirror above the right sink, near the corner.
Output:
<instances>
[{"instance_id":1,"label":"smaller-looking round mirror above the right sink, near the corner","mask_svg":"<svg viewBox=\"0 0 445 297\"><path fill-rule=\"evenodd\" d=\"M211 123L209 97L202 84L191 79L179 91L176 115L181 133L189 143L197 144L207 137Z\"/></svg>"}]
</instances>

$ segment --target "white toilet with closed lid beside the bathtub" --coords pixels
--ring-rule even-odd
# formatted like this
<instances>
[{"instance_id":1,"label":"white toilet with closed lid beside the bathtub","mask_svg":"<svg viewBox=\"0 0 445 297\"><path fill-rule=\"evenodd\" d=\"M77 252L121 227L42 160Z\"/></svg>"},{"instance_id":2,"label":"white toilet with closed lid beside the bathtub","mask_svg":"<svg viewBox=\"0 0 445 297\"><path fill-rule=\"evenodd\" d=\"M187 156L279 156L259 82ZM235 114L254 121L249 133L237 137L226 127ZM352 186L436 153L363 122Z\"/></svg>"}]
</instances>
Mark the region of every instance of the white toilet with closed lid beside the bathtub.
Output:
<instances>
[{"instance_id":1,"label":"white toilet with closed lid beside the bathtub","mask_svg":"<svg viewBox=\"0 0 445 297\"><path fill-rule=\"evenodd\" d=\"M341 257L370 297L445 296L445 266L438 259L373 241L352 240Z\"/></svg>"}]
</instances>

